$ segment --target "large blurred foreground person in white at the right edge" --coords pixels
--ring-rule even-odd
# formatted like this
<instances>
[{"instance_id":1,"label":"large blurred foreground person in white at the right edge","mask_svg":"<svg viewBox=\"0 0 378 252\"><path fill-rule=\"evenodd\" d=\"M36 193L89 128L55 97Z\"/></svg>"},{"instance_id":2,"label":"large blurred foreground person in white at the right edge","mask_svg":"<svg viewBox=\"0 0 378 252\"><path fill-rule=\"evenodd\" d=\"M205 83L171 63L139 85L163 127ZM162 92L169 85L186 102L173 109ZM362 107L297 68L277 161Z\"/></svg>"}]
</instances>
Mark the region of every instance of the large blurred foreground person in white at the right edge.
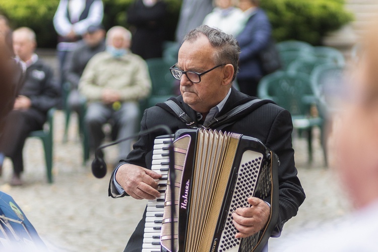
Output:
<instances>
[{"instance_id":1,"label":"large blurred foreground person in white at the right edge","mask_svg":"<svg viewBox=\"0 0 378 252\"><path fill-rule=\"evenodd\" d=\"M353 207L346 216L293 233L284 251L377 251L378 233L378 19L365 29L362 54L345 74L344 100L333 115L331 166ZM283 251L283 250L280 250Z\"/></svg>"}]
</instances>

